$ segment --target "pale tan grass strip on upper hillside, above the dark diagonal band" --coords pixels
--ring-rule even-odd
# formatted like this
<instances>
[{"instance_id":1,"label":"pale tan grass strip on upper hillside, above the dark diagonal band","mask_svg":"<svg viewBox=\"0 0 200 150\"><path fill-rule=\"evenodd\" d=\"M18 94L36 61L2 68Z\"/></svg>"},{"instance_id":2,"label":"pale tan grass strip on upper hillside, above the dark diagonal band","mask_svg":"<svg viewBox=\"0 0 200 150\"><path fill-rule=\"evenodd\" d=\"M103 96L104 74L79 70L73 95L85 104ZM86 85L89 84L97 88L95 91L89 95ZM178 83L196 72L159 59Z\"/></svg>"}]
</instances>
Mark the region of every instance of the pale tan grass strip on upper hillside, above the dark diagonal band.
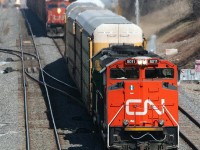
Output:
<instances>
[{"instance_id":1,"label":"pale tan grass strip on upper hillside, above the dark diagonal band","mask_svg":"<svg viewBox=\"0 0 200 150\"><path fill-rule=\"evenodd\" d=\"M155 11L140 18L141 27L145 36L149 38L152 34L169 26L180 18L184 18L192 11L188 0L176 0L162 10Z\"/></svg>"}]
</instances>

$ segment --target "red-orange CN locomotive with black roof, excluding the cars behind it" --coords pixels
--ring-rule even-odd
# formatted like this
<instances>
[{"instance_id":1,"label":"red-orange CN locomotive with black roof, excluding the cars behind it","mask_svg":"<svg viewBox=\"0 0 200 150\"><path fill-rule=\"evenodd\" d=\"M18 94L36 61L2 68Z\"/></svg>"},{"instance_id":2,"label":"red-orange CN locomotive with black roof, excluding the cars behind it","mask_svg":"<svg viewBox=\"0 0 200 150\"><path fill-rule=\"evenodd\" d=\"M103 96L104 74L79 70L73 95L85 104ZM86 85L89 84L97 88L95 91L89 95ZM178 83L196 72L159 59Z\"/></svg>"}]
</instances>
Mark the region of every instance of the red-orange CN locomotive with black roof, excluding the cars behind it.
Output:
<instances>
[{"instance_id":1,"label":"red-orange CN locomotive with black roof, excluding the cars behind it","mask_svg":"<svg viewBox=\"0 0 200 150\"><path fill-rule=\"evenodd\" d=\"M93 61L92 108L107 148L177 149L176 66L130 46L103 50Z\"/></svg>"}]
</instances>

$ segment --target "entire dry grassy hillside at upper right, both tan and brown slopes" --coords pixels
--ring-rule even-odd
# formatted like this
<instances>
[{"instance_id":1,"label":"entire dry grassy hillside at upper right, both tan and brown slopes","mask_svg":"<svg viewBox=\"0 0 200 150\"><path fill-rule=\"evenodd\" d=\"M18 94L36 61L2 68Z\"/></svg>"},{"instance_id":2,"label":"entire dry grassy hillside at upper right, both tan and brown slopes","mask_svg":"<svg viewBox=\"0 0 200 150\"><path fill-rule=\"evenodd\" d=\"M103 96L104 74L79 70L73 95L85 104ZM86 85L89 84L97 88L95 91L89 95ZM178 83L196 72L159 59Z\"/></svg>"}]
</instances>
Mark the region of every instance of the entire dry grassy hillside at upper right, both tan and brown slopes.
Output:
<instances>
[{"instance_id":1,"label":"entire dry grassy hillside at upper right, both tan and brown slopes","mask_svg":"<svg viewBox=\"0 0 200 150\"><path fill-rule=\"evenodd\" d=\"M192 14L189 0L177 0L162 10L141 18L141 27L147 38L157 35L159 55L177 64L180 68L194 68L195 59L200 59L200 19ZM165 49L177 48L178 54L166 56Z\"/></svg>"}]
</instances>

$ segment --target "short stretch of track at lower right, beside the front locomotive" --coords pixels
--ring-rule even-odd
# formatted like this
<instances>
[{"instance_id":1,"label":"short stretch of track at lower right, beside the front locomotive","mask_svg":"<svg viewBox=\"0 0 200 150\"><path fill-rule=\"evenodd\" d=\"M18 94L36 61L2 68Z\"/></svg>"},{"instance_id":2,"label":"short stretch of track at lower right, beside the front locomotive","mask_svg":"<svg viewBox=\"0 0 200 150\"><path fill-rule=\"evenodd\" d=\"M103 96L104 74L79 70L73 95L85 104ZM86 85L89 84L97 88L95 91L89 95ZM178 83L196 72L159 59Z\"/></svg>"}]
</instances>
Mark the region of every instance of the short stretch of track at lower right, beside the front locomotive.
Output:
<instances>
[{"instance_id":1,"label":"short stretch of track at lower right, beside the front locomotive","mask_svg":"<svg viewBox=\"0 0 200 150\"><path fill-rule=\"evenodd\" d=\"M200 149L200 124L179 106L180 137L193 149Z\"/></svg>"}]
</instances>

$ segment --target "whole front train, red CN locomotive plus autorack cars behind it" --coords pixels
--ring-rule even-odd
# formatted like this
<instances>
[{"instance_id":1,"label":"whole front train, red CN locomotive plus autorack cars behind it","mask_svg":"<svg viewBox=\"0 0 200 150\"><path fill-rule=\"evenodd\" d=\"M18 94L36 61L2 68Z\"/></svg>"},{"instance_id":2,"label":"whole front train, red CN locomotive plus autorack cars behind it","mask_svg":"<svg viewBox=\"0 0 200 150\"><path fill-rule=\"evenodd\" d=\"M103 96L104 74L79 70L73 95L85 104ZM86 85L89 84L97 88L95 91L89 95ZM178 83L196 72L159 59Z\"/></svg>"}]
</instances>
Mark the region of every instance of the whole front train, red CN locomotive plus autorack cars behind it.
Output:
<instances>
[{"instance_id":1,"label":"whole front train, red CN locomotive plus autorack cars behind it","mask_svg":"<svg viewBox=\"0 0 200 150\"><path fill-rule=\"evenodd\" d=\"M66 62L108 149L178 149L177 67L141 28L92 3L67 8Z\"/></svg>"}]
</instances>

